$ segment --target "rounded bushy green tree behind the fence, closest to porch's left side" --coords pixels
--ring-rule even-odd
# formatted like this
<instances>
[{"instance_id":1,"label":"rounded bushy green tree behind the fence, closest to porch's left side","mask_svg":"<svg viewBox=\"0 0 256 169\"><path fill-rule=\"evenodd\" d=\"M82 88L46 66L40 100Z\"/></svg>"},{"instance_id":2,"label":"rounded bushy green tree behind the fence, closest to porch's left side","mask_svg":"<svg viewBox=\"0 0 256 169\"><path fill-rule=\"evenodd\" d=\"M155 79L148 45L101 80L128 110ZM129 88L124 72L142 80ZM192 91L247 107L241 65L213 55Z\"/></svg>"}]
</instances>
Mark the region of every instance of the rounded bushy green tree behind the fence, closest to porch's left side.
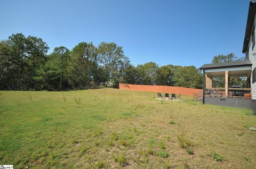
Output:
<instances>
[{"instance_id":1,"label":"rounded bushy green tree behind the fence, closest to porch's left side","mask_svg":"<svg viewBox=\"0 0 256 169\"><path fill-rule=\"evenodd\" d=\"M187 88L202 88L203 78L195 66L177 67L173 75L174 85Z\"/></svg>"}]
</instances>

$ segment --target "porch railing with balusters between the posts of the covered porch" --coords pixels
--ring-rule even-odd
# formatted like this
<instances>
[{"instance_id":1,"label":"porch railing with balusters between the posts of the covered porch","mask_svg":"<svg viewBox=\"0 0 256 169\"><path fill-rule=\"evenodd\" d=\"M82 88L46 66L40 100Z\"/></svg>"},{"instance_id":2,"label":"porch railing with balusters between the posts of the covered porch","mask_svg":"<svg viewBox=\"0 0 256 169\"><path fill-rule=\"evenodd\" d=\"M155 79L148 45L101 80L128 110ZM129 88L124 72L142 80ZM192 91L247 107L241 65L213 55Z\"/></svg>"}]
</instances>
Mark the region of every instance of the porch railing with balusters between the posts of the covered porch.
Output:
<instances>
[{"instance_id":1,"label":"porch railing with balusters between the posts of the covered porch","mask_svg":"<svg viewBox=\"0 0 256 169\"><path fill-rule=\"evenodd\" d=\"M206 88L205 96L226 97L225 88ZM251 88L228 88L228 97L251 98Z\"/></svg>"}]
</instances>

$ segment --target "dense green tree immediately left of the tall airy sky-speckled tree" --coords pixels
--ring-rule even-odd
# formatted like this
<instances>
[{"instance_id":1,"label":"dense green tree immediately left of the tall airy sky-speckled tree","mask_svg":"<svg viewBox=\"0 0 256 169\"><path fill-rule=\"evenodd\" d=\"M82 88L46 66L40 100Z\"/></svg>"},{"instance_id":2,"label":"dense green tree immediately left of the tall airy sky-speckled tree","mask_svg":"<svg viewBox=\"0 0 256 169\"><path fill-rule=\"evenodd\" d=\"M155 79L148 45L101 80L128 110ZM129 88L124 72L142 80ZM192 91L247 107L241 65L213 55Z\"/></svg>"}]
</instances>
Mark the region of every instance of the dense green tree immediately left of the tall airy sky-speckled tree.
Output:
<instances>
[{"instance_id":1,"label":"dense green tree immediately left of the tall airy sky-speckled tree","mask_svg":"<svg viewBox=\"0 0 256 169\"><path fill-rule=\"evenodd\" d=\"M94 79L97 69L97 51L92 43L79 43L71 51L68 66L69 83L72 87L85 87Z\"/></svg>"}]
</instances>

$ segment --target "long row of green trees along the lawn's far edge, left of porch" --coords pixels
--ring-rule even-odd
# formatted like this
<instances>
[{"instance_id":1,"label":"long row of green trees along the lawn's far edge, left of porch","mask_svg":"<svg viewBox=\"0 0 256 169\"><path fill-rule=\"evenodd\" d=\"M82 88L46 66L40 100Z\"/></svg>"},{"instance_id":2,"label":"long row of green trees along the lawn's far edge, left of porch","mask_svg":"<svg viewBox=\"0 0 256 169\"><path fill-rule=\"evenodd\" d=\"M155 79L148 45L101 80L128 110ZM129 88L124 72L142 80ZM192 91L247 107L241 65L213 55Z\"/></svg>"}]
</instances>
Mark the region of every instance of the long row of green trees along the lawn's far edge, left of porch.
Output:
<instances>
[{"instance_id":1,"label":"long row of green trees along the lawn's far edge, left of porch","mask_svg":"<svg viewBox=\"0 0 256 169\"><path fill-rule=\"evenodd\" d=\"M69 90L119 83L202 88L202 73L195 66L134 66L115 43L79 43L72 50L48 45L22 33L0 41L1 90Z\"/></svg>"}]
</instances>

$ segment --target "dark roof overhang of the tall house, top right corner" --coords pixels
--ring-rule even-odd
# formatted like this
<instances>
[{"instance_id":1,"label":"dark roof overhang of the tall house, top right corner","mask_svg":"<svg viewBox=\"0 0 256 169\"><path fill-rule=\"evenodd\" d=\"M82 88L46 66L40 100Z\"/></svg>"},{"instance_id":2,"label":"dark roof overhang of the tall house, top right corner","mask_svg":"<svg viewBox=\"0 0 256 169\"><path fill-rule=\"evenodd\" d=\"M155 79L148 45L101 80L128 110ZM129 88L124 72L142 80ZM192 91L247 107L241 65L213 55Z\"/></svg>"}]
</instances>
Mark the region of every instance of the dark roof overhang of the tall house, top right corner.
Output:
<instances>
[{"instance_id":1,"label":"dark roof overhang of the tall house, top right corner","mask_svg":"<svg viewBox=\"0 0 256 169\"><path fill-rule=\"evenodd\" d=\"M244 45L242 50L243 53L246 53L247 47L249 45L249 40L251 37L253 22L255 18L255 12L256 12L256 2L250 1L246 29L245 29L245 36L244 36Z\"/></svg>"}]
</instances>

